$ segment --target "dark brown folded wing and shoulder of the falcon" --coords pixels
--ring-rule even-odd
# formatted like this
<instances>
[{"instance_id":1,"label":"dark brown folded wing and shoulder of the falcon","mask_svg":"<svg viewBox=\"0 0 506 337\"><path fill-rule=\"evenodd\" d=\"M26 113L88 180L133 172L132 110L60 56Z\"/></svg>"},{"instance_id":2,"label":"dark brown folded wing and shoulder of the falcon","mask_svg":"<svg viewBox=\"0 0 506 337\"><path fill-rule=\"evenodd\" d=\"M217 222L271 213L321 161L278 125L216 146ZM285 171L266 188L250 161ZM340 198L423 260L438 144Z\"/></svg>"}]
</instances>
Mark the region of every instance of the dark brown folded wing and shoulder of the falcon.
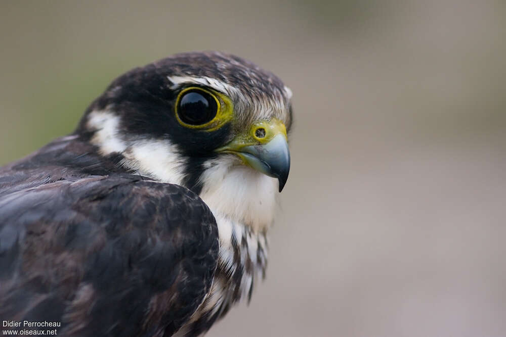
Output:
<instances>
[{"instance_id":1,"label":"dark brown folded wing and shoulder of the falcon","mask_svg":"<svg viewBox=\"0 0 506 337\"><path fill-rule=\"evenodd\" d=\"M218 229L187 188L111 174L14 189L0 197L3 317L171 335L203 301Z\"/></svg>"}]
</instances>

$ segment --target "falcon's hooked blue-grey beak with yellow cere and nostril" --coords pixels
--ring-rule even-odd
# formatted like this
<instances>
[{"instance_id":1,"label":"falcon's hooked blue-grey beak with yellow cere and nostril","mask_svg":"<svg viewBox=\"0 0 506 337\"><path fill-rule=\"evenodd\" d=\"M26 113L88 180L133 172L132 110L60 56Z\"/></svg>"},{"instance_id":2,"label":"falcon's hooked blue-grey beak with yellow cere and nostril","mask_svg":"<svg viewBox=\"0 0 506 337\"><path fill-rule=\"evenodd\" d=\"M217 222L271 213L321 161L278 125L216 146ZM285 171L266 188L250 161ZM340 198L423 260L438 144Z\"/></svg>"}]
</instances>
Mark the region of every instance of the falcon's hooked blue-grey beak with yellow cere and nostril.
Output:
<instances>
[{"instance_id":1,"label":"falcon's hooked blue-grey beak with yellow cere and nostril","mask_svg":"<svg viewBox=\"0 0 506 337\"><path fill-rule=\"evenodd\" d=\"M246 134L238 135L218 152L233 153L244 164L277 178L283 189L290 171L290 152L284 124L277 120L255 123Z\"/></svg>"}]
</instances>

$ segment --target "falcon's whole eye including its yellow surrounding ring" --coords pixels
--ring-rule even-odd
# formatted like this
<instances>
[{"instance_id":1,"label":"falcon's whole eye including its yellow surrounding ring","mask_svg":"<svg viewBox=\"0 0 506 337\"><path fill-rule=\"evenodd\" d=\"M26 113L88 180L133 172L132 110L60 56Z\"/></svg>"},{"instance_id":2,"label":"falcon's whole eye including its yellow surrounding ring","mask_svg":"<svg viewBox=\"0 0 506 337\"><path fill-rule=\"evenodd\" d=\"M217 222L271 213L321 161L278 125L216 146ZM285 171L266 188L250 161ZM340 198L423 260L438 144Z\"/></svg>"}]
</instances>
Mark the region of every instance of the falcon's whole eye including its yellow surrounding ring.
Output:
<instances>
[{"instance_id":1,"label":"falcon's whole eye including its yellow surrounding ring","mask_svg":"<svg viewBox=\"0 0 506 337\"><path fill-rule=\"evenodd\" d=\"M191 86L178 94L174 111L176 119L182 126L214 131L232 119L233 106L230 99L222 93Z\"/></svg>"}]
</instances>

